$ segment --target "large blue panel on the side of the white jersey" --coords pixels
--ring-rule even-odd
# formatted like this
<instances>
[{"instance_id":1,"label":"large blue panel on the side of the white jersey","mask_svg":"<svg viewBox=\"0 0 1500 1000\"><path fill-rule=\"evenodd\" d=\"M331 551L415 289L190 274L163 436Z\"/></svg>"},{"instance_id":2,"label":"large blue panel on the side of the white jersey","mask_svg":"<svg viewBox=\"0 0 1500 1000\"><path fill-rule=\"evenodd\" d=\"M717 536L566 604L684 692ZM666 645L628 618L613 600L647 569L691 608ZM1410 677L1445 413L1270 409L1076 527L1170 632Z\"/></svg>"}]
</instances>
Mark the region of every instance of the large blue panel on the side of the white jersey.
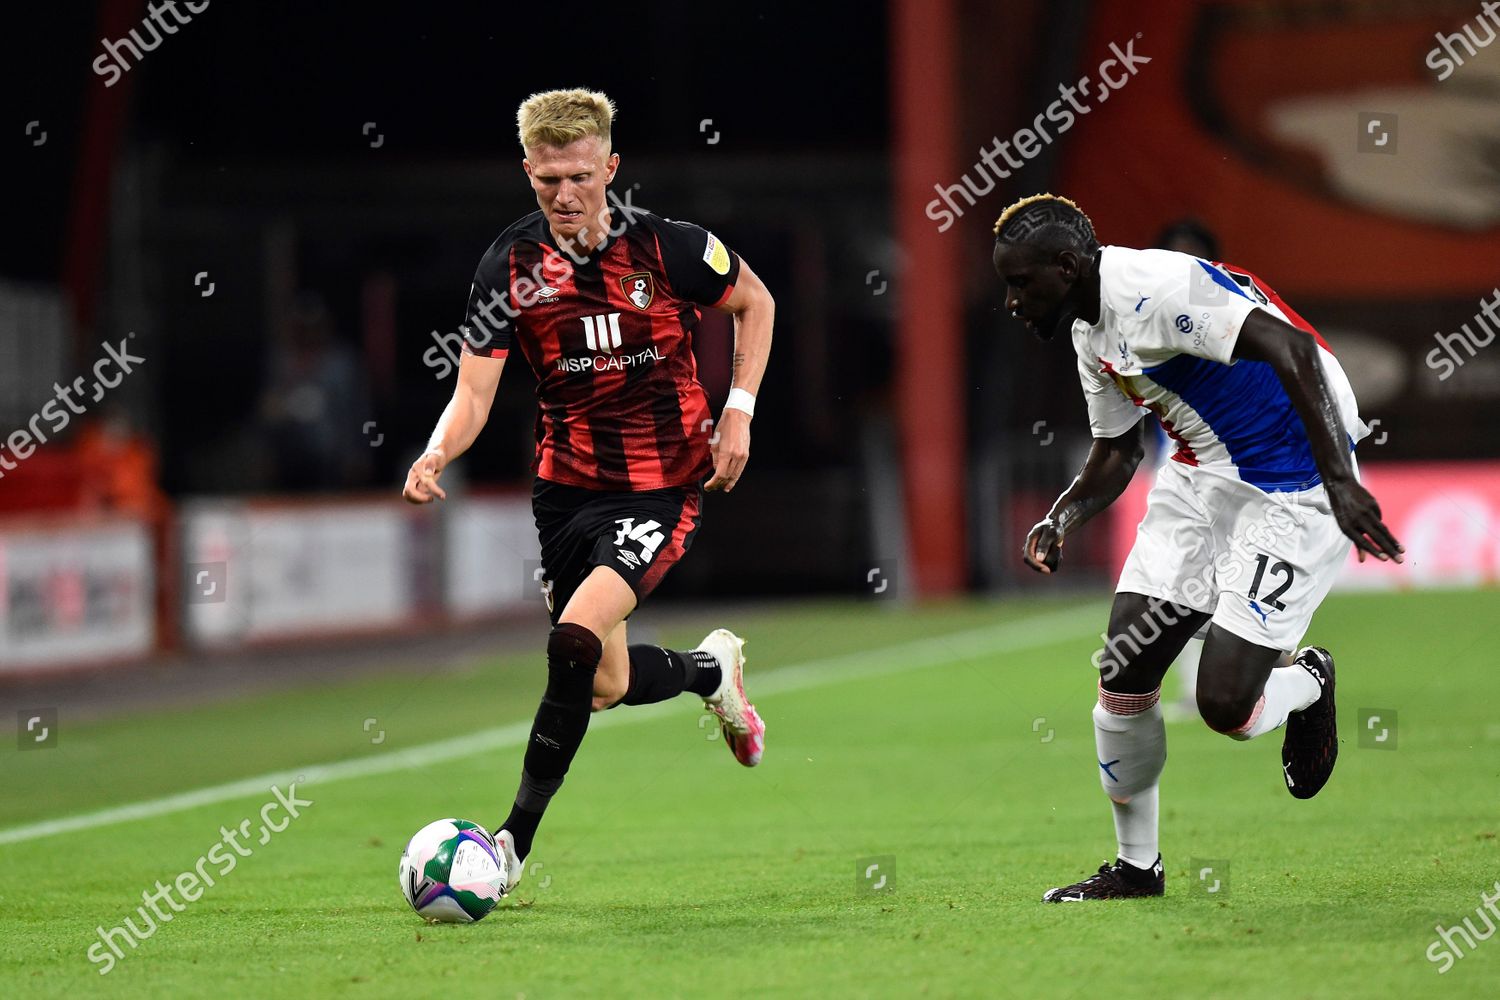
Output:
<instances>
[{"instance_id":1,"label":"large blue panel on the side of the white jersey","mask_svg":"<svg viewBox=\"0 0 1500 1000\"><path fill-rule=\"evenodd\" d=\"M1268 493L1293 493L1322 481L1302 418L1264 361L1220 364L1179 354L1144 373L1203 417L1244 481Z\"/></svg>"}]
</instances>

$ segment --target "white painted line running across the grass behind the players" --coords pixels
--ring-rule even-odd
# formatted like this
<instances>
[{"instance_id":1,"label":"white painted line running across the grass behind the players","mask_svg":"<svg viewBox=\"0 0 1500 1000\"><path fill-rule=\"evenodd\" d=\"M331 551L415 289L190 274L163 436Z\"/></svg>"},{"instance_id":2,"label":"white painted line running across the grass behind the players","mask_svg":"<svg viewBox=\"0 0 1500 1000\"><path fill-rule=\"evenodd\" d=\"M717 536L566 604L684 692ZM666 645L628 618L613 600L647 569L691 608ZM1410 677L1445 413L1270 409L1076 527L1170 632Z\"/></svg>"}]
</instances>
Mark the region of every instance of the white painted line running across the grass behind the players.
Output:
<instances>
[{"instance_id":1,"label":"white painted line running across the grass behind the players","mask_svg":"<svg viewBox=\"0 0 1500 1000\"><path fill-rule=\"evenodd\" d=\"M808 660L778 670L771 670L754 678L754 693L764 696L786 694L807 688L825 687L843 681L864 681L868 678L903 673L908 670L922 670L927 667L972 660L975 657L1018 652L1036 646L1050 646L1058 642L1072 639L1082 631L1096 631L1100 627L1100 607L1074 607L1060 612L1048 612L1017 622L987 625L984 628L969 628L957 633L945 633L928 639L915 639L885 649L868 652L840 654ZM630 712L602 712L590 721L590 729L608 729L630 723L644 723L660 718L674 709L670 703L634 708ZM332 763L309 765L291 771L276 771L255 778L242 778L226 784L216 784L207 789L170 795L160 799L147 799L129 805L117 805L96 813L81 816L66 816L56 820L42 820L26 826L12 826L0 831L0 844L21 844L54 834L70 834L75 831L94 829L114 823L129 823L132 820L154 819L171 813L182 813L213 805L231 799L264 796L273 784L288 786L318 786L330 781L345 781L348 778L364 778L376 774L392 774L411 768L423 768L446 760L472 757L489 750L506 750L518 747L531 733L531 723L512 723L496 726L465 736L440 739L408 750L393 750L358 760L338 760Z\"/></svg>"}]
</instances>

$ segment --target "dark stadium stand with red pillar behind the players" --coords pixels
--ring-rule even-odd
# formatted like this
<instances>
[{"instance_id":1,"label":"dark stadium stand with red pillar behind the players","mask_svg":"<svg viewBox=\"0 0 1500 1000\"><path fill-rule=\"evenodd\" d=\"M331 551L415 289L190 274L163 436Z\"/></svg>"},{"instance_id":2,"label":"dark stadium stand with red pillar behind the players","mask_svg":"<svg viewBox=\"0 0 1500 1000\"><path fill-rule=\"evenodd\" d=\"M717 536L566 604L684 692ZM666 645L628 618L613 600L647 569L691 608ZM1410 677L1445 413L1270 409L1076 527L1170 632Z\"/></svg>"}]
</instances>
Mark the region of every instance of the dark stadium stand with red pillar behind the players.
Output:
<instances>
[{"instance_id":1,"label":"dark stadium stand with red pillar behind the players","mask_svg":"<svg viewBox=\"0 0 1500 1000\"><path fill-rule=\"evenodd\" d=\"M616 190L639 184L636 204L718 232L778 303L748 475L734 496L710 501L663 606L810 594L898 603L1035 585L1016 550L1077 468L1086 426L1066 345L1041 345L1004 316L988 225L1012 198L1044 189L1076 196L1107 243L1143 246L1172 219L1204 220L1226 259L1278 286L1346 360L1366 418L1384 432L1362 459L1452 463L1412 472L1412 483L1488 475L1480 462L1500 453L1496 357L1479 351L1450 382L1424 358L1434 334L1468 322L1490 294L1496 214L1413 207L1395 181L1352 193L1332 154L1268 124L1274 100L1347 97L1338 120L1353 148L1360 100L1378 112L1402 87L1476 87L1494 52L1443 91L1424 66L1434 31L1456 30L1470 4L1178 0L1120 13L1134 6L220 0L105 87L90 69L100 39L138 27L146 4L28 4L15 12L9 54L0 418L24 427L52 381L87 372L105 342L134 334L147 363L6 474L0 526L26 537L70 517L146 525L153 573L110 583L90 567L57 571L82 574L74 586L86 595L150 591L144 645L96 643L86 661L208 634L206 646L300 636L303 625L286 636L184 627L192 567L206 562L183 519L234 514L242 502L399 504L405 468L452 388L423 354L434 333L454 330L494 235L534 208L514 108L564 85L616 100ZM1094 73L1112 42L1131 37L1155 64L938 232L924 213L934 186L957 183L993 136L1024 127L1059 84ZM1404 127L1443 114L1407 112ZM1398 154L1440 171L1467 153L1407 139ZM316 447L267 417L278 351L304 327L326 331L322 349L345 363L346 384L328 390L308 432ZM716 409L728 336L711 316L698 345ZM508 366L489 427L452 475L476 495L528 487L522 369ZM92 481L104 475L92 453L69 450L94 423L154 466L144 507L112 501ZM534 609L514 601L453 610L442 564L452 523L435 526L432 511L400 517L414 555L392 627L518 615L534 624ZM296 547L298 529L288 531ZM1128 523L1078 537L1072 585L1107 585L1122 538ZM244 550L228 552L208 562L228 562L232 579ZM525 552L507 552L486 571L524 576ZM1496 561L1485 567L1478 573L1492 582ZM273 580L298 573L262 570ZM57 573L38 573L10 582L12 624L24 610L33 637L76 627L56 612L66 606ZM18 594L32 595L24 609ZM309 594L318 600L315 586Z\"/></svg>"}]
</instances>

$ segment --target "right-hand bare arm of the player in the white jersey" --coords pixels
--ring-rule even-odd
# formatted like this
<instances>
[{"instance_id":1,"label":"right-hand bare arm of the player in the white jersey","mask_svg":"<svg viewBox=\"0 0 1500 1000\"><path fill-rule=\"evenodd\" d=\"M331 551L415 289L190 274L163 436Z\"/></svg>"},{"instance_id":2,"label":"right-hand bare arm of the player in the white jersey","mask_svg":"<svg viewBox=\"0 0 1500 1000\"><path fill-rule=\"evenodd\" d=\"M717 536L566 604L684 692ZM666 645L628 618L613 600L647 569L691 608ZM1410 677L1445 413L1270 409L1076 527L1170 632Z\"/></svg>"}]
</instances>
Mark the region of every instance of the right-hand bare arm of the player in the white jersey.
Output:
<instances>
[{"instance_id":1,"label":"right-hand bare arm of the player in the white jersey","mask_svg":"<svg viewBox=\"0 0 1500 1000\"><path fill-rule=\"evenodd\" d=\"M1354 478L1354 463L1348 459L1348 435L1338 412L1338 400L1334 399L1334 390L1328 384L1328 373L1318 361L1317 342L1292 324L1257 309L1240 327L1234 357L1264 361L1281 379L1281 387L1306 429L1312 460L1317 463L1318 475L1323 477L1323 489L1328 490L1334 517L1353 540L1359 561L1364 562L1365 553L1370 553L1377 559L1401 562L1406 549L1380 520L1380 504Z\"/></svg>"}]
</instances>

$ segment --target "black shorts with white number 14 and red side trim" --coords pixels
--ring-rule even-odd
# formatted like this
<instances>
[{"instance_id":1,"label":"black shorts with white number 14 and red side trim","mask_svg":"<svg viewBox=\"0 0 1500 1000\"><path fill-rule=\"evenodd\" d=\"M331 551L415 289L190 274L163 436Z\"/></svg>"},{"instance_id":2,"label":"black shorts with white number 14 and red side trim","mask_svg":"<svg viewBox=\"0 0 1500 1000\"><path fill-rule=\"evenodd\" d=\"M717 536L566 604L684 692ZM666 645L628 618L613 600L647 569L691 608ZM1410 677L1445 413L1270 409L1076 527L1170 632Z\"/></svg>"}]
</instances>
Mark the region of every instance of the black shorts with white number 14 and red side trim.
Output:
<instances>
[{"instance_id":1,"label":"black shorts with white number 14 and red side trim","mask_svg":"<svg viewBox=\"0 0 1500 1000\"><path fill-rule=\"evenodd\" d=\"M702 520L700 486L604 492L538 478L531 511L542 540L548 613L558 622L594 567L609 567L636 592L636 606L693 544Z\"/></svg>"}]
</instances>

